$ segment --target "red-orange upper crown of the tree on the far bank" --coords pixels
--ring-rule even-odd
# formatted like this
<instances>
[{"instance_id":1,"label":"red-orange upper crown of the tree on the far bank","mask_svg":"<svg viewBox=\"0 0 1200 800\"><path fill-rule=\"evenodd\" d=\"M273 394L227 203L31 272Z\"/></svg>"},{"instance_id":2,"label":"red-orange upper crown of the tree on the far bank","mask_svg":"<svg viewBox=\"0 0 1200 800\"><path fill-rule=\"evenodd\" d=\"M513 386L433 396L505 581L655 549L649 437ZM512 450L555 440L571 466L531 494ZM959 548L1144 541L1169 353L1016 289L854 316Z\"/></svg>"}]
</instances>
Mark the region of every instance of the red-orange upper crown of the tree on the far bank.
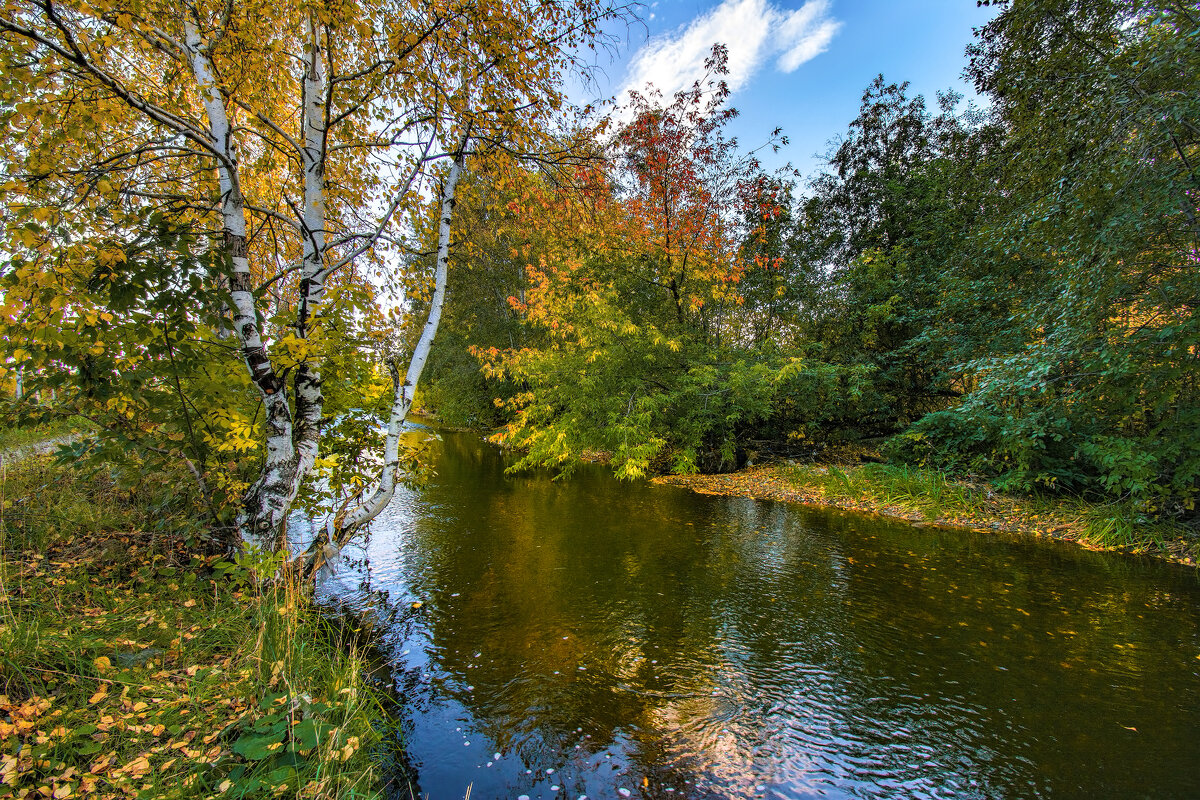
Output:
<instances>
[{"instance_id":1,"label":"red-orange upper crown of the tree on the far bank","mask_svg":"<svg viewBox=\"0 0 1200 800\"><path fill-rule=\"evenodd\" d=\"M742 337L737 284L758 266L742 258L751 231L782 212L764 191L755 152L725 133L737 116L724 82L726 52L714 47L708 74L664 103L631 92L631 119L616 136L614 179L622 219L614 251L626 269L664 297L667 315L713 345ZM775 131L769 146L775 146Z\"/></svg>"}]
</instances>

